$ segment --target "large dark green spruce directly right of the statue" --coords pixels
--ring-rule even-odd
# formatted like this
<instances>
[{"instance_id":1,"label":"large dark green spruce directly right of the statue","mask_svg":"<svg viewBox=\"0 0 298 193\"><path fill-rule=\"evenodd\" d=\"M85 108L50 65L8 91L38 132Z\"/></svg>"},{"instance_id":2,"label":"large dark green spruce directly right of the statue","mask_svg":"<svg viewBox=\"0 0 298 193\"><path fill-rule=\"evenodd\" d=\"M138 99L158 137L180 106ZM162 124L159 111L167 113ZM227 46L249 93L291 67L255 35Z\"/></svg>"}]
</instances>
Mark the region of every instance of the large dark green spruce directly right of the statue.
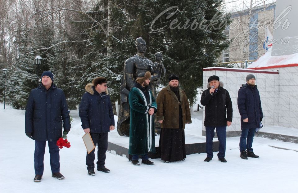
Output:
<instances>
[{"instance_id":1,"label":"large dark green spruce directly right of the statue","mask_svg":"<svg viewBox=\"0 0 298 193\"><path fill-rule=\"evenodd\" d=\"M167 74L180 75L180 85L191 105L196 99L196 89L202 86L202 69L214 66L222 50L228 47L223 34L225 27L219 25L222 22L228 26L231 20L221 12L221 3L222 0L144 0L138 8L139 23L144 26L139 33L149 40L149 52L163 51ZM152 27L158 13L170 7L173 8L158 17ZM176 24L171 25L175 20ZM218 23L210 25L213 21Z\"/></svg>"}]
</instances>

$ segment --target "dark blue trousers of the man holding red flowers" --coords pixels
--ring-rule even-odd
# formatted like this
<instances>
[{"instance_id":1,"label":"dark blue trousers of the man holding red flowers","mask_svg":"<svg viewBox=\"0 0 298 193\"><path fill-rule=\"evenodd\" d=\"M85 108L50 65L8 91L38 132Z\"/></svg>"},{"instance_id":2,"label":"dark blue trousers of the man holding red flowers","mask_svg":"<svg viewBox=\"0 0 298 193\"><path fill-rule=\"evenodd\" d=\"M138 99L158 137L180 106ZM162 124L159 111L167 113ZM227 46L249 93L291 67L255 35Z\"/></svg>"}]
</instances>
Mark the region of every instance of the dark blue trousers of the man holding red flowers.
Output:
<instances>
[{"instance_id":1,"label":"dark blue trousers of the man holding red flowers","mask_svg":"<svg viewBox=\"0 0 298 193\"><path fill-rule=\"evenodd\" d=\"M46 150L47 141L36 141L34 150L34 170L35 175L43 175L43 157ZM56 145L56 141L48 141L49 152L50 152L50 165L52 173L60 171L60 155L59 148Z\"/></svg>"}]
</instances>

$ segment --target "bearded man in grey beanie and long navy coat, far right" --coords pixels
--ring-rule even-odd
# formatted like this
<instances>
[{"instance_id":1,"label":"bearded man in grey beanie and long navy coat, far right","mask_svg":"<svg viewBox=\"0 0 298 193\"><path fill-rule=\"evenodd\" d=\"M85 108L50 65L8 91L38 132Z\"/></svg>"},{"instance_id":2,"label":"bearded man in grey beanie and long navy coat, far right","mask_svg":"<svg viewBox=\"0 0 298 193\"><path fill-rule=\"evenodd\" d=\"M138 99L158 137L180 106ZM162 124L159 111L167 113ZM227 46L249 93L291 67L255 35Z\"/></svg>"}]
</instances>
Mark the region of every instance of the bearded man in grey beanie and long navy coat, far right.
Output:
<instances>
[{"instance_id":1,"label":"bearded man in grey beanie and long navy coat, far right","mask_svg":"<svg viewBox=\"0 0 298 193\"><path fill-rule=\"evenodd\" d=\"M254 154L252 141L255 136L255 129L260 128L263 119L260 93L255 85L255 76L248 74L246 84L238 91L238 110L241 115L241 137L240 137L240 157L259 158ZM246 152L247 151L247 152Z\"/></svg>"}]
</instances>

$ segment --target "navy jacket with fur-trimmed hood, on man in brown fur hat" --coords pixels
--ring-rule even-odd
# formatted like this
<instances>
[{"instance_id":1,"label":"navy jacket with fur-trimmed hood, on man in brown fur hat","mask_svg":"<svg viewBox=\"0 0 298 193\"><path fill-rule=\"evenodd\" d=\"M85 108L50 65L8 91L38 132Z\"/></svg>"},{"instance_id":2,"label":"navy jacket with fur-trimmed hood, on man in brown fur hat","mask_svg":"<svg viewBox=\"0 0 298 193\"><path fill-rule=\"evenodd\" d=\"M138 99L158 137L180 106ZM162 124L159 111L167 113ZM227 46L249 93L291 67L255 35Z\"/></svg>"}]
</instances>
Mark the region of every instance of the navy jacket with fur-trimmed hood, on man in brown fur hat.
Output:
<instances>
[{"instance_id":1,"label":"navy jacket with fur-trimmed hood, on man in brown fur hat","mask_svg":"<svg viewBox=\"0 0 298 193\"><path fill-rule=\"evenodd\" d=\"M79 106L79 116L82 128L90 128L91 133L106 133L110 126L115 126L114 114L108 91L101 95L95 90L92 83L85 87L86 91Z\"/></svg>"}]
</instances>

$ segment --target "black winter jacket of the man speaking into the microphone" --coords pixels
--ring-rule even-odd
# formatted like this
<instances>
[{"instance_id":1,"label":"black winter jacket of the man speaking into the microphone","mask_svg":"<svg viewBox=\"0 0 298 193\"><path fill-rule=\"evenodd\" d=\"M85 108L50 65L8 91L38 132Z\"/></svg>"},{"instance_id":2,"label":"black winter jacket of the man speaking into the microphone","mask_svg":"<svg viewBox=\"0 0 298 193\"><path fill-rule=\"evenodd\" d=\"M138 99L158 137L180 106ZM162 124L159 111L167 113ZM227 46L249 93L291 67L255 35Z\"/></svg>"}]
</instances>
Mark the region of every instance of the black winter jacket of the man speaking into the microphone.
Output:
<instances>
[{"instance_id":1,"label":"black winter jacket of the man speaking into the microphone","mask_svg":"<svg viewBox=\"0 0 298 193\"><path fill-rule=\"evenodd\" d=\"M203 91L201 96L201 104L205 106L204 125L216 127L227 125L227 121L232 122L233 107L229 92L222 88L221 82L213 96L209 90Z\"/></svg>"}]
</instances>

